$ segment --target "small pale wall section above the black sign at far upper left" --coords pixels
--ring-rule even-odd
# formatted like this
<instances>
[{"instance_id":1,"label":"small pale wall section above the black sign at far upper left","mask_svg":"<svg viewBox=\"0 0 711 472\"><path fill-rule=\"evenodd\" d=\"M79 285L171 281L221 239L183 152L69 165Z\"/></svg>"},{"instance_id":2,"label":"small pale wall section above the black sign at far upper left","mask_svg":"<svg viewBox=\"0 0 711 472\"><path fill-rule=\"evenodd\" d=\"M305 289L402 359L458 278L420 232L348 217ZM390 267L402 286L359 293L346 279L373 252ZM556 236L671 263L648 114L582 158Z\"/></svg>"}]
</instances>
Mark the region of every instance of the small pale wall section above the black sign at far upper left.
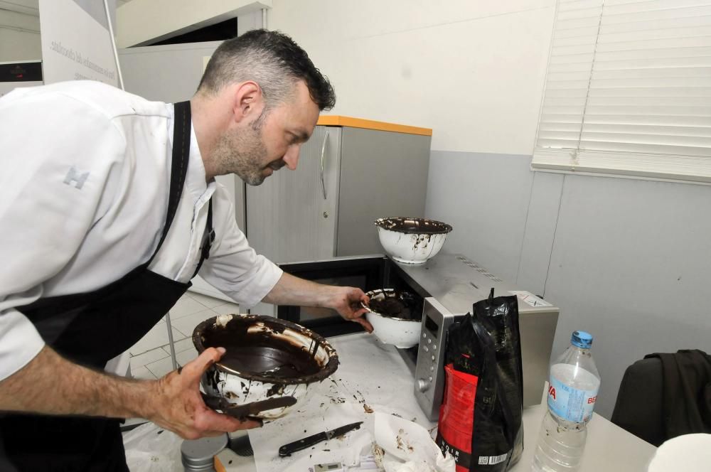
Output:
<instances>
[{"instance_id":1,"label":"small pale wall section above the black sign at far upper left","mask_svg":"<svg viewBox=\"0 0 711 472\"><path fill-rule=\"evenodd\" d=\"M41 58L39 17L0 9L0 63Z\"/></svg>"}]
</instances>

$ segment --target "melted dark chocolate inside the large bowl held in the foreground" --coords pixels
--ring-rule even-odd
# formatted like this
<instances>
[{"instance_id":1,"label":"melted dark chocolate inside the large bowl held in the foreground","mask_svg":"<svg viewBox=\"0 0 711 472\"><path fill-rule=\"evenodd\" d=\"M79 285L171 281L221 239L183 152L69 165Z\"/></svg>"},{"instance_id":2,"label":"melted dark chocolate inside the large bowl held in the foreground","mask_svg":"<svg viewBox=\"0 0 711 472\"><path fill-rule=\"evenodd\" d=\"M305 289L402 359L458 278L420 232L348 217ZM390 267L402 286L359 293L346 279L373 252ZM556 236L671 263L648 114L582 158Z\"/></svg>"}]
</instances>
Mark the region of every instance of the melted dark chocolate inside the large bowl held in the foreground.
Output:
<instances>
[{"instance_id":1,"label":"melted dark chocolate inside the large bowl held in the foreground","mask_svg":"<svg viewBox=\"0 0 711 472\"><path fill-rule=\"evenodd\" d=\"M311 352L270 333L270 330L283 332L284 326L265 322L264 328L248 331L253 325L252 321L232 318L224 327L206 330L203 345L225 348L227 352L220 364L241 374L285 379L313 375L322 369L314 358L315 348Z\"/></svg>"}]
</instances>

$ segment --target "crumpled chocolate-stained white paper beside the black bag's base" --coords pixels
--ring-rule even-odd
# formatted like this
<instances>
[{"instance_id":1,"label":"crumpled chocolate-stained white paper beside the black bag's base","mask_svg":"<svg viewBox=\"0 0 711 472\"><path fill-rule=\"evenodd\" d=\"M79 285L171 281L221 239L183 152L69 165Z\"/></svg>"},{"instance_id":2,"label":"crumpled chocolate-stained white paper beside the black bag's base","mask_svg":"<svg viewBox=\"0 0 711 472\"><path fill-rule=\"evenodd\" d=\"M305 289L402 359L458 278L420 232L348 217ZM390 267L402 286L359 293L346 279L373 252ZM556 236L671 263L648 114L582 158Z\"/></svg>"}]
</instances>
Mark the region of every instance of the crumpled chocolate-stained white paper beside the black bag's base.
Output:
<instances>
[{"instance_id":1,"label":"crumpled chocolate-stained white paper beside the black bag's base","mask_svg":"<svg viewBox=\"0 0 711 472\"><path fill-rule=\"evenodd\" d=\"M454 457L434 444L429 431L417 423L375 412L375 442L385 451L385 472L454 472Z\"/></svg>"}]
</instances>

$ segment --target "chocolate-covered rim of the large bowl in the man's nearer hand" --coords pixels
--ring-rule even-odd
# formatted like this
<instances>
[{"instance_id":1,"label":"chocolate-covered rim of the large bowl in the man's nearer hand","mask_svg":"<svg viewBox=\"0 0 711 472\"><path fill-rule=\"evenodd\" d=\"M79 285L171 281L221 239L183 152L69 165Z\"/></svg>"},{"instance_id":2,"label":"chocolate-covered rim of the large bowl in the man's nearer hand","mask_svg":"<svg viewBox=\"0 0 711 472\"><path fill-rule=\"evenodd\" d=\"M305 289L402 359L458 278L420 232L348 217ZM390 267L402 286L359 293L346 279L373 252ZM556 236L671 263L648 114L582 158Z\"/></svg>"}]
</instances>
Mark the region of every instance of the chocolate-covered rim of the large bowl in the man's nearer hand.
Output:
<instances>
[{"instance_id":1,"label":"chocolate-covered rim of the large bowl in the man's nearer hand","mask_svg":"<svg viewBox=\"0 0 711 472\"><path fill-rule=\"evenodd\" d=\"M245 373L240 372L239 370L229 368L223 363L220 363L220 361L214 363L211 366L216 368L217 370L228 374L237 375L238 377L250 382L262 382L264 384L272 385L298 385L320 382L321 380L330 377L333 372L336 372L336 369L338 368L339 361L336 349L334 349L333 346L329 344L328 341L319 333L315 333L309 328L305 328L304 326L301 326L299 324L292 323L292 321L287 321L281 318L274 318L274 316L264 315L216 315L206 319L205 321L202 321L198 324L198 326L195 327L195 329L193 329L193 345L195 345L195 348L198 351L198 355L202 354L205 350L205 345L203 345L202 339L203 332L205 331L205 329L214 326L218 318L224 316L230 316L230 321L232 321L233 318L239 317L248 321L252 321L252 325L256 325L257 323L262 323L263 326L268 326L269 324L280 325L283 328L287 328L289 330L296 331L297 333L301 333L304 336L316 340L319 343L319 347L322 347L324 348L324 350L326 350L326 357L328 358L328 362L326 363L326 365L323 366L323 368L321 368L321 370L319 370L319 372L316 372L311 375L304 375L303 377L268 377L266 375L257 375L253 372Z\"/></svg>"}]
</instances>

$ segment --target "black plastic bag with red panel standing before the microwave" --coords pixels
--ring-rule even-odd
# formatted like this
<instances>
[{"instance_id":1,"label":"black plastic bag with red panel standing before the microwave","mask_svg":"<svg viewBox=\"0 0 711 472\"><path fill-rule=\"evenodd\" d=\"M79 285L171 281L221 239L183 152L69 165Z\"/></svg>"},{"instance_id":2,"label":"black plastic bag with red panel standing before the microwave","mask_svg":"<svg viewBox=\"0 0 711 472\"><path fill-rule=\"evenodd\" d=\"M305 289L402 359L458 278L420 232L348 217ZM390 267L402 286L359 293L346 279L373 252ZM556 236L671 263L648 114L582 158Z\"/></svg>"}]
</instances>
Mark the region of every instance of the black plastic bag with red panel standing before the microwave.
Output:
<instances>
[{"instance_id":1,"label":"black plastic bag with red panel standing before the microwave","mask_svg":"<svg viewBox=\"0 0 711 472\"><path fill-rule=\"evenodd\" d=\"M523 452L518 300L478 301L447 335L447 383L437 444L457 472L504 472Z\"/></svg>"}]
</instances>

